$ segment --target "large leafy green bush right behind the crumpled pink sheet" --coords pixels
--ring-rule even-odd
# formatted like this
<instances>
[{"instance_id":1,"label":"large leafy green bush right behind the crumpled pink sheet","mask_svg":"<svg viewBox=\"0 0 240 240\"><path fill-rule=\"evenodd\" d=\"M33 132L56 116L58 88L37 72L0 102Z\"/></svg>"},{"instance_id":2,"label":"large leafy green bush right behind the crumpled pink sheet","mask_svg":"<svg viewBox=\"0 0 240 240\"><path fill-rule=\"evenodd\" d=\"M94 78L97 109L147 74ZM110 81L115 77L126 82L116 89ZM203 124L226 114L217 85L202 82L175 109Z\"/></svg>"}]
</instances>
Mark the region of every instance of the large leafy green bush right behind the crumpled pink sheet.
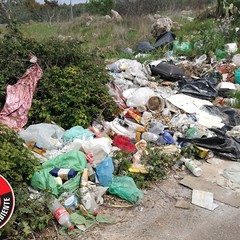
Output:
<instances>
[{"instance_id":1,"label":"large leafy green bush right behind the crumpled pink sheet","mask_svg":"<svg viewBox=\"0 0 240 240\"><path fill-rule=\"evenodd\" d=\"M0 107L3 107L7 84L14 84L26 71L29 52L38 57L43 77L38 82L29 124L54 121L70 128L87 127L92 115L111 119L116 105L108 94L109 76L101 54L82 49L78 40L46 39L42 42L24 38L16 26L0 42Z\"/></svg>"}]
</instances>

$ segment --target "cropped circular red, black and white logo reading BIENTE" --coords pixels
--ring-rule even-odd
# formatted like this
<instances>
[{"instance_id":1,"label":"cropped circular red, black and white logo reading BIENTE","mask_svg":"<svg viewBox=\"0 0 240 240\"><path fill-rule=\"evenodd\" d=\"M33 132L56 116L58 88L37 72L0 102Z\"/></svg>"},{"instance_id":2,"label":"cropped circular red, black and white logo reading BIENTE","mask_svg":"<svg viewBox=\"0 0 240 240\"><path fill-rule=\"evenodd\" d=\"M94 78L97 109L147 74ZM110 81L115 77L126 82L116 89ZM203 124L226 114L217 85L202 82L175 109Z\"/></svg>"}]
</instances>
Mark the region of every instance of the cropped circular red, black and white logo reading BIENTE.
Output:
<instances>
[{"instance_id":1,"label":"cropped circular red, black and white logo reading BIENTE","mask_svg":"<svg viewBox=\"0 0 240 240\"><path fill-rule=\"evenodd\" d=\"M11 218L15 206L14 193L9 182L0 175L0 228Z\"/></svg>"}]
</instances>

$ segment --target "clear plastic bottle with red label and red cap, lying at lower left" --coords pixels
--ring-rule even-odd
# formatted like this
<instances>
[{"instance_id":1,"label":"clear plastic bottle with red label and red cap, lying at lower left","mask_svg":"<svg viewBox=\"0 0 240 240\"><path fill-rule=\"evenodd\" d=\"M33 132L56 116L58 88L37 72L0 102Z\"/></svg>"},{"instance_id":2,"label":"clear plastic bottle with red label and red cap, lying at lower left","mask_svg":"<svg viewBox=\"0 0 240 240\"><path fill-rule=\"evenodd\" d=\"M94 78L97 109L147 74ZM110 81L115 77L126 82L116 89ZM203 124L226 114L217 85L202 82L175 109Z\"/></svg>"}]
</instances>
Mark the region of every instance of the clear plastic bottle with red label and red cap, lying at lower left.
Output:
<instances>
[{"instance_id":1,"label":"clear plastic bottle with red label and red cap, lying at lower left","mask_svg":"<svg viewBox=\"0 0 240 240\"><path fill-rule=\"evenodd\" d=\"M50 210L60 225L68 227L70 231L74 229L74 226L70 221L69 213L57 199L52 202Z\"/></svg>"}]
</instances>

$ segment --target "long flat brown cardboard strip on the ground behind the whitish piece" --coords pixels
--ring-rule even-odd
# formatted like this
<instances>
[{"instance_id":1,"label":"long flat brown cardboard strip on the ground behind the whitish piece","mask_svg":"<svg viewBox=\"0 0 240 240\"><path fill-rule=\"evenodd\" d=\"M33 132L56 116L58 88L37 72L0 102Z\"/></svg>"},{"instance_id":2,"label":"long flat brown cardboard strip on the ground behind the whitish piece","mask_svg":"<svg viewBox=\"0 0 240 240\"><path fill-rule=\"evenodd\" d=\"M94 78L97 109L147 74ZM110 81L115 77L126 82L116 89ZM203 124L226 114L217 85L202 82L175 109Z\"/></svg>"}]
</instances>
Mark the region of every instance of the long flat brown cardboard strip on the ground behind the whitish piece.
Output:
<instances>
[{"instance_id":1,"label":"long flat brown cardboard strip on the ground behind the whitish piece","mask_svg":"<svg viewBox=\"0 0 240 240\"><path fill-rule=\"evenodd\" d=\"M191 189L202 190L213 193L215 200L233 207L240 207L240 192L234 192L218 186L216 183L196 178L191 175L186 176L180 184Z\"/></svg>"}]
</instances>

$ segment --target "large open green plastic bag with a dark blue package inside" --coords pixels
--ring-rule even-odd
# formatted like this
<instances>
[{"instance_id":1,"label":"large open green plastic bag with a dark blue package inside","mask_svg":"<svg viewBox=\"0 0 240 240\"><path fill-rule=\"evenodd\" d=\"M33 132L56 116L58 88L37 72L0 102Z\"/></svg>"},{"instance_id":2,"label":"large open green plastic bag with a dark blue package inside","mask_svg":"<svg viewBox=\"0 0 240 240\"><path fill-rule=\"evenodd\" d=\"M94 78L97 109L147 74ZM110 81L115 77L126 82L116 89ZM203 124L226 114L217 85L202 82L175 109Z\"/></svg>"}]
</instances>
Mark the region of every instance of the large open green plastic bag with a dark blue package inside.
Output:
<instances>
[{"instance_id":1,"label":"large open green plastic bag with a dark blue package inside","mask_svg":"<svg viewBox=\"0 0 240 240\"><path fill-rule=\"evenodd\" d=\"M80 184L81 173L87 164L85 154L78 150L72 150L42 164L43 169L35 172L31 179L31 186L36 190L47 190L58 196L63 192L74 192ZM63 185L57 185L54 177L49 173L53 168L73 169L78 172Z\"/></svg>"}]
</instances>

